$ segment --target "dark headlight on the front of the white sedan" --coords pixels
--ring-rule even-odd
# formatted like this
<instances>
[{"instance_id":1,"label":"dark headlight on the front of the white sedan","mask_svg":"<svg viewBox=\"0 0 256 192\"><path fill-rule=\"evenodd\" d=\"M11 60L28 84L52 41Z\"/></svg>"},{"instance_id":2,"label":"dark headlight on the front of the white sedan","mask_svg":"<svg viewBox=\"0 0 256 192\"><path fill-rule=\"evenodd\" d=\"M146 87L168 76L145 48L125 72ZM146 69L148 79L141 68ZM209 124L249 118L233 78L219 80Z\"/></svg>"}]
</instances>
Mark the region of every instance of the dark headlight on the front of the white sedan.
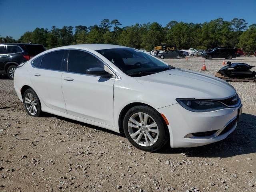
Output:
<instances>
[{"instance_id":1,"label":"dark headlight on the front of the white sedan","mask_svg":"<svg viewBox=\"0 0 256 192\"><path fill-rule=\"evenodd\" d=\"M196 99L176 99L176 101L185 109L193 112L209 112L227 108L218 101Z\"/></svg>"}]
</instances>

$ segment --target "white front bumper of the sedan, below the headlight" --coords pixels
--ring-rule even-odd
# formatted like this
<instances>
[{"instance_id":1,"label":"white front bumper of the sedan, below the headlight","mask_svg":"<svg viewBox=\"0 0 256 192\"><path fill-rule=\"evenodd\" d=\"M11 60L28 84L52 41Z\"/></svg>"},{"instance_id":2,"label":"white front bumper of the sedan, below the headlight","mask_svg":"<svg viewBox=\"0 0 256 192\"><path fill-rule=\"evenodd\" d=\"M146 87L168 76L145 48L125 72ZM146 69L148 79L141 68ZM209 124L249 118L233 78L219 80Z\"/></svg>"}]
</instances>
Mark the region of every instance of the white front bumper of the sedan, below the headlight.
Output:
<instances>
[{"instance_id":1,"label":"white front bumper of the sedan, below the headlight","mask_svg":"<svg viewBox=\"0 0 256 192\"><path fill-rule=\"evenodd\" d=\"M232 133L237 126L240 106L196 113L174 104L158 112L169 122L171 147L196 147L223 140Z\"/></svg>"}]
</instances>

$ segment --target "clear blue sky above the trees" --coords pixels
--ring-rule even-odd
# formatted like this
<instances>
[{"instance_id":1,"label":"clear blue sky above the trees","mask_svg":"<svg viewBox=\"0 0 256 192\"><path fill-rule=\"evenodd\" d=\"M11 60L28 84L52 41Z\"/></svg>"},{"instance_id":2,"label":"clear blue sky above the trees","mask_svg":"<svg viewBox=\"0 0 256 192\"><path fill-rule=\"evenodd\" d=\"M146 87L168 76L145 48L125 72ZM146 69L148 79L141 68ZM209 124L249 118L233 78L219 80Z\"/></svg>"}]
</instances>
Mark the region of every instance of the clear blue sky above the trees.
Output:
<instances>
[{"instance_id":1,"label":"clear blue sky above the trees","mask_svg":"<svg viewBox=\"0 0 256 192\"><path fill-rule=\"evenodd\" d=\"M0 0L0 35L20 38L36 27L91 26L118 19L122 26L171 20L203 23L243 18L256 23L256 0Z\"/></svg>"}]
</instances>

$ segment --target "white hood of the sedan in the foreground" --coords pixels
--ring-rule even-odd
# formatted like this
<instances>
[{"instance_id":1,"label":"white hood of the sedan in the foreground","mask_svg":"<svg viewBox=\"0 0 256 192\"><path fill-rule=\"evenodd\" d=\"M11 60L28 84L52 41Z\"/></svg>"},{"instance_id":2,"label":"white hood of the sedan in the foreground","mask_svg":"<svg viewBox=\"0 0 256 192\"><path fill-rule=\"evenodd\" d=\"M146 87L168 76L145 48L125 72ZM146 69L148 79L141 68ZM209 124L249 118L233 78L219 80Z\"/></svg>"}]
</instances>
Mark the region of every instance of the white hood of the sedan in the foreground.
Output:
<instances>
[{"instance_id":1,"label":"white hood of the sedan in the foreground","mask_svg":"<svg viewBox=\"0 0 256 192\"><path fill-rule=\"evenodd\" d=\"M153 95L167 95L172 103L176 98L226 99L236 94L230 84L219 78L178 68L136 79L150 87Z\"/></svg>"}]
</instances>

